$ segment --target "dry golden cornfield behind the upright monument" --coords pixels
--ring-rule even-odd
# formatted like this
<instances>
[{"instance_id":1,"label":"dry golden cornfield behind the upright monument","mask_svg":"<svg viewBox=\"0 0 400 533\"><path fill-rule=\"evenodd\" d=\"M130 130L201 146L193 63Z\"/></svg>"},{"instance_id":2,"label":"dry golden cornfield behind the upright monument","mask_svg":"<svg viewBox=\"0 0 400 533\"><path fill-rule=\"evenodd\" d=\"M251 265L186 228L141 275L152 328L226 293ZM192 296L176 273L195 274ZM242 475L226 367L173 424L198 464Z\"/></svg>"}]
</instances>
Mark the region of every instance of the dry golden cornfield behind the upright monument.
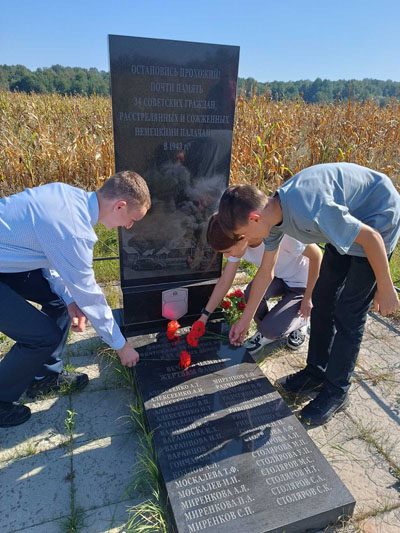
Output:
<instances>
[{"instance_id":1,"label":"dry golden cornfield behind the upright monument","mask_svg":"<svg viewBox=\"0 0 400 533\"><path fill-rule=\"evenodd\" d=\"M51 181L95 189L114 171L111 100L0 93L0 195ZM239 97L231 182L267 192L304 167L350 161L400 185L400 102Z\"/></svg>"}]
</instances>

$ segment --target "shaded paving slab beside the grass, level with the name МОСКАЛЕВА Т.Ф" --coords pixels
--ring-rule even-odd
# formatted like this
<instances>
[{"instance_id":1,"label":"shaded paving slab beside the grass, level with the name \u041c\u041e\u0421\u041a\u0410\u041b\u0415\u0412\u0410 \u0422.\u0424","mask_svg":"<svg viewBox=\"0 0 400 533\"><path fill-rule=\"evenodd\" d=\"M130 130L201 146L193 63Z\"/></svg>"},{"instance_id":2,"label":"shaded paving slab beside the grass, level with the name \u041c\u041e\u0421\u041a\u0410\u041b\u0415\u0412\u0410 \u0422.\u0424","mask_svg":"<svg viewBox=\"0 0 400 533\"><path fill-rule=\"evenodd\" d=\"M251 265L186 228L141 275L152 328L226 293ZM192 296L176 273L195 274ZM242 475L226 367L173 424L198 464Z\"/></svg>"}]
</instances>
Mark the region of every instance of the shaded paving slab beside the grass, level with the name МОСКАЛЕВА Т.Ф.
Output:
<instances>
[{"instance_id":1,"label":"shaded paving slab beside the grass, level with the name \u041c\u041e\u0421\u041a\u0410\u041b\u0415\u0412\u0410 \u0422.\u0424","mask_svg":"<svg viewBox=\"0 0 400 533\"><path fill-rule=\"evenodd\" d=\"M126 500L137 463L132 433L74 444L75 501L82 510Z\"/></svg>"}]
</instances>

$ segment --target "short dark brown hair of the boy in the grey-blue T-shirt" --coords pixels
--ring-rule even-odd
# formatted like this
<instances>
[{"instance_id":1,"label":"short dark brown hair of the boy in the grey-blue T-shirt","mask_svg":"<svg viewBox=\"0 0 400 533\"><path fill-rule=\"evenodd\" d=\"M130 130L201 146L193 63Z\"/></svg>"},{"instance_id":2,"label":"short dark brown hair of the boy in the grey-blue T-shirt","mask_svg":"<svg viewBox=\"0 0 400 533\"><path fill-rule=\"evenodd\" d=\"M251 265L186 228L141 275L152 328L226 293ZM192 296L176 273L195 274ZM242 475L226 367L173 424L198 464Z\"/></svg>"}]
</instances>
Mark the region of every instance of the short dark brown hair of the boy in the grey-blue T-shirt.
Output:
<instances>
[{"instance_id":1,"label":"short dark brown hair of the boy in the grey-blue T-shirt","mask_svg":"<svg viewBox=\"0 0 400 533\"><path fill-rule=\"evenodd\" d=\"M247 224L250 213L264 209L266 203L266 195L254 185L228 187L218 208L218 218L223 231L233 237L236 228Z\"/></svg>"}]
</instances>

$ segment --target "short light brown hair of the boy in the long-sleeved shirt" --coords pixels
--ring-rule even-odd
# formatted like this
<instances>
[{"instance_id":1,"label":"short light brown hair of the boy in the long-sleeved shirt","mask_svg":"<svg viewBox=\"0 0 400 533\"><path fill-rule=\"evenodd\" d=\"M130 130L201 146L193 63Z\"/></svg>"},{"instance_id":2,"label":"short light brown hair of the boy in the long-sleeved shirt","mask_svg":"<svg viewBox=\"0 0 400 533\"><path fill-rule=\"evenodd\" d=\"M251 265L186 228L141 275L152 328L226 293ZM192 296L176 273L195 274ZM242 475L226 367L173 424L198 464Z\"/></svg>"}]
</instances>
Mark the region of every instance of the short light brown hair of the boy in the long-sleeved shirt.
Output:
<instances>
[{"instance_id":1,"label":"short light brown hair of the boy in the long-sleeved shirt","mask_svg":"<svg viewBox=\"0 0 400 533\"><path fill-rule=\"evenodd\" d=\"M98 192L107 200L125 200L129 207L150 209L151 199L147 183L137 172L123 170L108 178Z\"/></svg>"}]
</instances>

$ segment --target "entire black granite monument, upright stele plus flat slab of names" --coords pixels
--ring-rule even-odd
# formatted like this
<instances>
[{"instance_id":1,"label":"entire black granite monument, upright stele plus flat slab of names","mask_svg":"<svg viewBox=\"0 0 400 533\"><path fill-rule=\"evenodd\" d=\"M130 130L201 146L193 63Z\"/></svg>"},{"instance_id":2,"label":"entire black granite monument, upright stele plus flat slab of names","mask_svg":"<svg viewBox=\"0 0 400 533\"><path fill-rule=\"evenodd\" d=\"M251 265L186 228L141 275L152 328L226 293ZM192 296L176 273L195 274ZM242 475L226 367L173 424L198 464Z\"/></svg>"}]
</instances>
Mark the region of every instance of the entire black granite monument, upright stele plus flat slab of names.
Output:
<instances>
[{"instance_id":1,"label":"entire black granite monument, upright stele plus flat slab of names","mask_svg":"<svg viewBox=\"0 0 400 533\"><path fill-rule=\"evenodd\" d=\"M238 48L109 44L116 170L139 172L152 195L143 221L120 232L123 326L128 336L159 332L131 342L173 528L320 530L351 514L354 499L248 352L209 336L180 370L185 341L160 333L168 318L197 319L220 276L205 229L228 184ZM178 289L188 310L168 317Z\"/></svg>"}]
</instances>

